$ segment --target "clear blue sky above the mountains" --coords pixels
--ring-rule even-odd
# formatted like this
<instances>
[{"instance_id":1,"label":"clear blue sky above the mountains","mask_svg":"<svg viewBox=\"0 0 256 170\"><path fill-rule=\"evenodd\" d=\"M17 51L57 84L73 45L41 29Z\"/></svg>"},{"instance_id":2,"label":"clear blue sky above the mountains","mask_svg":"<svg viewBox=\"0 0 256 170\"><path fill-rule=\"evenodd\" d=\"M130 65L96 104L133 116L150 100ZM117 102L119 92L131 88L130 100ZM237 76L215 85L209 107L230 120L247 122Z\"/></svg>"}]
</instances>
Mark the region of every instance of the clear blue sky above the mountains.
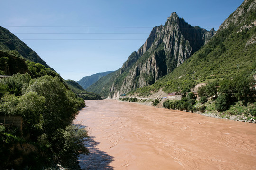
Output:
<instances>
[{"instance_id":1,"label":"clear blue sky above the mountains","mask_svg":"<svg viewBox=\"0 0 256 170\"><path fill-rule=\"evenodd\" d=\"M217 30L242 2L4 0L0 2L0 26L36 51L64 79L78 81L121 68L144 44L152 28L164 25L172 12L192 26Z\"/></svg>"}]
</instances>

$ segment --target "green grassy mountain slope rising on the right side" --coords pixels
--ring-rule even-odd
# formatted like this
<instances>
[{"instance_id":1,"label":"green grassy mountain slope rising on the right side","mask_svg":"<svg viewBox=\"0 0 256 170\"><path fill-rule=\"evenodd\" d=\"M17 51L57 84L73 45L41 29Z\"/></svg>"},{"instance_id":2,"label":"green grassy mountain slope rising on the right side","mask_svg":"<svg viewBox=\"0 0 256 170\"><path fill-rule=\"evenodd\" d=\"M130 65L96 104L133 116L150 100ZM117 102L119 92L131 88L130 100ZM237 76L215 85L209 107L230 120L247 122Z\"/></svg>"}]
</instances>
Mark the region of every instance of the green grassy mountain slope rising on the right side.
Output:
<instances>
[{"instance_id":1,"label":"green grassy mountain slope rising on the right side","mask_svg":"<svg viewBox=\"0 0 256 170\"><path fill-rule=\"evenodd\" d=\"M198 83L256 74L256 1L245 0L219 27L210 41L180 67L154 85L137 89L148 95L186 91Z\"/></svg>"}]
</instances>

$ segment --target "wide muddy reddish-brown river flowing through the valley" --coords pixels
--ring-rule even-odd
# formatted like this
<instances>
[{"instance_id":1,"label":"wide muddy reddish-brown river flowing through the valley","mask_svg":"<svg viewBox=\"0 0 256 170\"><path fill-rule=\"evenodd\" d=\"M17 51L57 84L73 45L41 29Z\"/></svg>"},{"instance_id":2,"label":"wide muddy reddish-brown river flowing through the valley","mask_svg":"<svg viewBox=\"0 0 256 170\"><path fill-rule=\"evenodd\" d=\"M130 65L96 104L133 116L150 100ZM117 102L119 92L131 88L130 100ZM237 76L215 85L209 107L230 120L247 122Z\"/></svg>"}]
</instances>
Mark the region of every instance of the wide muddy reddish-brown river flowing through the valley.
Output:
<instances>
[{"instance_id":1,"label":"wide muddy reddish-brown river flowing through the valley","mask_svg":"<svg viewBox=\"0 0 256 170\"><path fill-rule=\"evenodd\" d=\"M256 124L117 100L85 101L84 170L256 170Z\"/></svg>"}]
</instances>

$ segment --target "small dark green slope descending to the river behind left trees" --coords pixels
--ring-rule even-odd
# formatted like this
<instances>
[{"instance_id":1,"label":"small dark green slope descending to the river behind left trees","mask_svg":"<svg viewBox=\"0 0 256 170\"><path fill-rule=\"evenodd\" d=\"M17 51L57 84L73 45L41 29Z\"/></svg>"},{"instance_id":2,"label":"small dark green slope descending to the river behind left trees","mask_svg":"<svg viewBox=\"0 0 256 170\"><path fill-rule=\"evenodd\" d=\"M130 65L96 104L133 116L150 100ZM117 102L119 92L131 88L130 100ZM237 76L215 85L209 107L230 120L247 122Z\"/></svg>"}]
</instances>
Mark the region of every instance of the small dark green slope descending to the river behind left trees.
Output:
<instances>
[{"instance_id":1,"label":"small dark green slope descending to the river behind left trees","mask_svg":"<svg viewBox=\"0 0 256 170\"><path fill-rule=\"evenodd\" d=\"M78 95L78 97L83 98L84 100L97 100L97 99L102 99L101 96L98 94L92 93L92 92L87 92L84 90L81 85L79 85L76 81L74 80L65 80L65 83L68 85L68 87Z\"/></svg>"}]
</instances>

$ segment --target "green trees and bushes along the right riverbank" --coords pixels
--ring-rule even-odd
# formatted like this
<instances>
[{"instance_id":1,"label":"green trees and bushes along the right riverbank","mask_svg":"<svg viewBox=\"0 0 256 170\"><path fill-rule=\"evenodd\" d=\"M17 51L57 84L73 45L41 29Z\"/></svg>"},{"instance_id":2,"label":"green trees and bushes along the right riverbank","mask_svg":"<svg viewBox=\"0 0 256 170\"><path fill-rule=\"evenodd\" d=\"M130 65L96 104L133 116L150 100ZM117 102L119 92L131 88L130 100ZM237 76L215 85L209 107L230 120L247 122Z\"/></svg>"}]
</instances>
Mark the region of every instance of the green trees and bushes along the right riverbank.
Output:
<instances>
[{"instance_id":1,"label":"green trees and bushes along the right riverbank","mask_svg":"<svg viewBox=\"0 0 256 170\"><path fill-rule=\"evenodd\" d=\"M193 93L188 93L182 100L163 102L168 109L185 110L190 112L208 112L220 115L221 118L236 120L256 121L256 91L252 90L255 81L252 77L243 76L224 79L220 82L210 82L206 86L199 87L199 100L195 100Z\"/></svg>"}]
</instances>

